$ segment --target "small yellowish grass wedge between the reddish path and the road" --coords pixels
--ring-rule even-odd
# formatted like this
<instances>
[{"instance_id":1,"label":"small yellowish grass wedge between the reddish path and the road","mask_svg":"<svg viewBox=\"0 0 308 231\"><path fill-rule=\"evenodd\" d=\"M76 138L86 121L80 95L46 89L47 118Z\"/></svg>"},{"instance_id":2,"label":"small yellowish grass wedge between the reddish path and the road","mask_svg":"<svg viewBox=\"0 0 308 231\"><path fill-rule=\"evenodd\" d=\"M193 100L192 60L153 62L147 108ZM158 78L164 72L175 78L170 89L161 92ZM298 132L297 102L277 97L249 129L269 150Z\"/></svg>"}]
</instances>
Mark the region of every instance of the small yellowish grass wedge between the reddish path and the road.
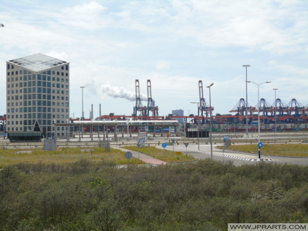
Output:
<instances>
[{"instance_id":1,"label":"small yellowish grass wedge between the reddish path and the road","mask_svg":"<svg viewBox=\"0 0 308 231\"><path fill-rule=\"evenodd\" d=\"M129 149L132 151L138 151L137 146L125 146L123 147L125 149ZM150 157L165 161L167 163L175 163L175 162L187 162L195 160L192 156L186 156L186 155L177 155L173 151L163 150L156 147L140 147L140 152L144 153L145 155L148 155Z\"/></svg>"}]
</instances>

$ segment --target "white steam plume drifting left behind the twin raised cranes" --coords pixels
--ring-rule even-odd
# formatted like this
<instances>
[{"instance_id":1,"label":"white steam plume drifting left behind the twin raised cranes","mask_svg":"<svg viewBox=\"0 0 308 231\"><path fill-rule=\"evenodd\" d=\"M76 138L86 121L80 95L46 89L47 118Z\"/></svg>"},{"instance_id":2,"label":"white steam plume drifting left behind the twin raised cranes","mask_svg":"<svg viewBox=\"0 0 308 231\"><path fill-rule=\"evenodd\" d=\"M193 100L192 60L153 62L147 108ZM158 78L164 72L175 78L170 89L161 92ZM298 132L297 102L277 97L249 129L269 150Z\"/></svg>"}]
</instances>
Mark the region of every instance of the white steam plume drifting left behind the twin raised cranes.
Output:
<instances>
[{"instance_id":1,"label":"white steam plume drifting left behind the twin raised cranes","mask_svg":"<svg viewBox=\"0 0 308 231\"><path fill-rule=\"evenodd\" d=\"M109 84L104 84L101 86L101 93L103 98L123 98L129 101L136 101L136 92L131 92L124 87L111 86ZM140 99L147 101L147 95L140 93Z\"/></svg>"}]
</instances>

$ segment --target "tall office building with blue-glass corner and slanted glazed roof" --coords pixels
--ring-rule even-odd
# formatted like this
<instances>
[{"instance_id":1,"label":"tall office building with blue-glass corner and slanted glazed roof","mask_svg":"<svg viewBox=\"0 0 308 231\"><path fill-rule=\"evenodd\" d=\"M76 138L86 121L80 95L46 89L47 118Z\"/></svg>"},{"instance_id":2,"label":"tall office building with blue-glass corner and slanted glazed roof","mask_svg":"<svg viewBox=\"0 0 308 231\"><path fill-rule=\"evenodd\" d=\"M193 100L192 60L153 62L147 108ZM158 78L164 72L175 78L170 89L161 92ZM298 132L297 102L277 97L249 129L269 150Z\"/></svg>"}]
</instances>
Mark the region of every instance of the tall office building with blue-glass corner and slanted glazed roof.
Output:
<instances>
[{"instance_id":1,"label":"tall office building with blue-glass corner and slanted glazed roof","mask_svg":"<svg viewBox=\"0 0 308 231\"><path fill-rule=\"evenodd\" d=\"M7 132L65 137L66 127L54 123L69 120L69 63L41 53L6 63Z\"/></svg>"}]
</instances>

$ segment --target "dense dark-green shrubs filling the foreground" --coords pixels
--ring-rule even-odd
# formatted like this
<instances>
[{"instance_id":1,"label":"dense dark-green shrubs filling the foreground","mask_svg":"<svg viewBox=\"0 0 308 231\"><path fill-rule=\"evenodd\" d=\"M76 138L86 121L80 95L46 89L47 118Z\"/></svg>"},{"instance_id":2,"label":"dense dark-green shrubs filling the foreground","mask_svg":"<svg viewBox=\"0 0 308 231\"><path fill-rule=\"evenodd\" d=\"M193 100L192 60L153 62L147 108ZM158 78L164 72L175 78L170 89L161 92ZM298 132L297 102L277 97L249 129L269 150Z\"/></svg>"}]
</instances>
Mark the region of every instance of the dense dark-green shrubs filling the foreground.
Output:
<instances>
[{"instance_id":1,"label":"dense dark-green shrubs filling the foreground","mask_svg":"<svg viewBox=\"0 0 308 231\"><path fill-rule=\"evenodd\" d=\"M0 230L226 230L308 222L308 167L86 160L0 170Z\"/></svg>"}]
</instances>

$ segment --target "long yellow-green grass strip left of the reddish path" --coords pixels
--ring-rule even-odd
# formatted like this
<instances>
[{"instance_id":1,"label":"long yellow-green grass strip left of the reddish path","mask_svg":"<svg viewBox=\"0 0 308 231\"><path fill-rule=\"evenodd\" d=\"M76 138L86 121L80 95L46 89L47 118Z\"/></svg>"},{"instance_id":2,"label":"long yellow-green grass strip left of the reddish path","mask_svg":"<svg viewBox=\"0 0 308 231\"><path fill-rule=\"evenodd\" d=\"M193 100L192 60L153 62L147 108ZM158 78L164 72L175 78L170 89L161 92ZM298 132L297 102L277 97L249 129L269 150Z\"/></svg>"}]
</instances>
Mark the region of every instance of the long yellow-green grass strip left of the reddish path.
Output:
<instances>
[{"instance_id":1,"label":"long yellow-green grass strip left of the reddish path","mask_svg":"<svg viewBox=\"0 0 308 231\"><path fill-rule=\"evenodd\" d=\"M92 150L92 151L91 151ZM44 149L3 149L0 150L0 168L18 163L57 163L68 164L80 160L92 162L112 162L115 164L144 164L136 158L127 160L121 150L110 148L56 148L54 151Z\"/></svg>"}]
</instances>

